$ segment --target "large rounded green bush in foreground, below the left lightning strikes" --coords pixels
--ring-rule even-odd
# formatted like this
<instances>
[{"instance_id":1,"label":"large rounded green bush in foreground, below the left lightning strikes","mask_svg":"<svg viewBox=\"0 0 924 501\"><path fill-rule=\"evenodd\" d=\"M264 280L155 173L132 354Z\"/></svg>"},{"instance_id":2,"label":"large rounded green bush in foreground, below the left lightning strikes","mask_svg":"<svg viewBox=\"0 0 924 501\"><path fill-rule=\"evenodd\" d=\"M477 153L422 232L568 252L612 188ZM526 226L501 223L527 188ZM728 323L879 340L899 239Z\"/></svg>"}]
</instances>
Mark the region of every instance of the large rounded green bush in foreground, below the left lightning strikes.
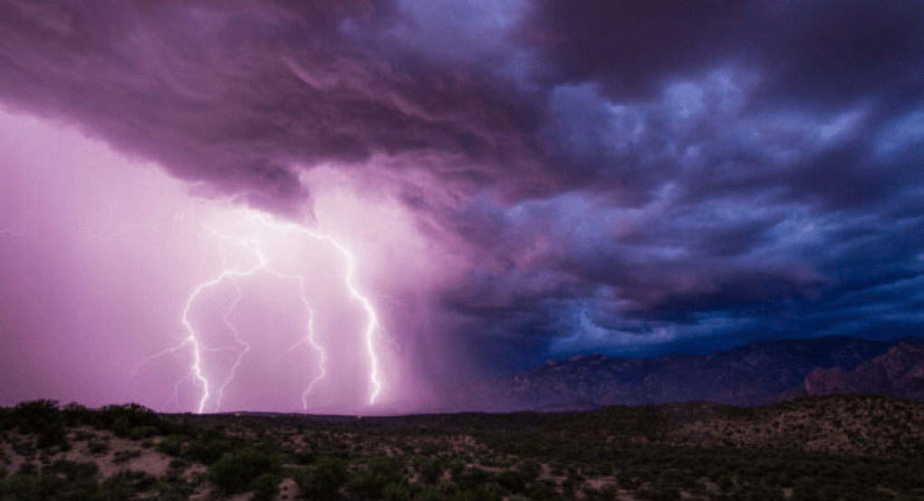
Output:
<instances>
[{"instance_id":1,"label":"large rounded green bush in foreground, below the left lightning strikes","mask_svg":"<svg viewBox=\"0 0 924 501\"><path fill-rule=\"evenodd\" d=\"M268 447L242 447L229 452L209 467L209 478L225 494L243 493L264 473L282 474L279 454Z\"/></svg>"}]
</instances>

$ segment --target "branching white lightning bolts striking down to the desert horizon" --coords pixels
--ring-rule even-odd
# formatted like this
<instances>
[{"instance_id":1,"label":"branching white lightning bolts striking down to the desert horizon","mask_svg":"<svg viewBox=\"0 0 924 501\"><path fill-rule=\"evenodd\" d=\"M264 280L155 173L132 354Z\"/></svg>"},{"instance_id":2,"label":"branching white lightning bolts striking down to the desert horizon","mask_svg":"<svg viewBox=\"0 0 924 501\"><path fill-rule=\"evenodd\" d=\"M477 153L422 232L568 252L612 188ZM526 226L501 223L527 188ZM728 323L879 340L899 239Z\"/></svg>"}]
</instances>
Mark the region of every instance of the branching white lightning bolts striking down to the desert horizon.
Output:
<instances>
[{"instance_id":1,"label":"branching white lightning bolts striking down to the desert horizon","mask_svg":"<svg viewBox=\"0 0 924 501\"><path fill-rule=\"evenodd\" d=\"M188 349L191 347L192 351L192 364L187 376L183 377L176 383L175 388L175 398L178 400L179 386L189 378L194 379L194 384L201 388L201 396L199 403L197 405L197 412L205 412L206 407L210 400L213 399L213 393L217 391L217 397L214 398L214 411L219 411L221 407L221 401L225 395L225 388L228 384L234 379L237 368L244 359L244 356L249 352L250 345L246 341L241 339L240 333L234 325L231 316L234 314L237 308L237 304L240 303L244 292L240 287L239 280L242 280L247 277L252 277L257 273L268 273L271 276L274 276L279 279L285 280L296 280L298 282L298 291L299 299L301 304L304 305L306 311L309 313L309 320L306 326L306 336L303 340L299 340L295 345L293 345L288 352L292 352L298 345L307 342L311 349L318 353L320 362L319 362L319 371L320 374L310 381L308 388L302 393L302 405L304 410L307 412L309 409L309 397L311 390L322 380L324 376L327 376L327 367L326 360L327 355L324 349L320 344L318 344L315 339L314 330L313 330L313 311L310 308L310 301L308 298L308 293L306 292L305 287L305 277L302 275L293 275L286 274L278 271L273 268L270 259L266 256L264 252L264 245L267 241L272 238L274 242L278 242L279 238L282 238L286 235L300 235L302 237L310 238L312 240L322 241L328 245L331 245L337 253L343 257L346 262L346 274L344 277L344 283L346 285L346 290L349 292L350 297L358 301L362 305L363 309L366 312L368 321L366 323L366 328L364 332L365 340L365 349L366 354L369 360L369 384L370 384L370 394L369 394L369 405L374 405L378 399L383 388L383 379L379 373L379 356L376 353L376 334L380 329L379 316L375 311L375 307L372 305L370 299L363 295L359 291L355 282L356 275L356 258L353 253L343 244L334 239L334 237L321 233L316 230L298 225L291 222L279 222L273 221L269 216L261 213L248 210L243 217L242 221L248 221L257 225L258 230L253 230L253 234L249 234L247 237L236 236L233 234L222 233L216 230L214 227L207 227L207 230L213 235L214 238L218 239L222 251L222 271L218 276L214 277L212 280L207 280L201 282L193 292L191 292L186 301L186 305L183 309L183 314L181 322L186 328L186 338L182 340L176 346L165 350L164 352L156 353L151 357L141 361L140 364L146 364L151 361L153 358L159 357L167 352L172 354L177 354L180 351ZM272 231L271 234L265 234L266 231ZM255 259L255 262L248 267L234 267L228 264L228 260L225 256L225 247L227 245L233 245L239 249L246 249L250 255ZM225 314L222 317L222 321L227 328L234 333L235 340L237 341L238 346L243 346L244 349L237 353L237 359L232 365L229 375L222 381L220 384L214 383L208 376L206 376L207 370L205 365L205 353L206 352L216 352L216 351L235 351L235 347L219 347L219 348L209 348L206 347L204 342L201 341L201 335L197 332L196 328L193 326L192 321L190 320L190 311L192 310L194 304L200 300L201 294L208 289L216 287L225 281L230 281L234 286L237 295L234 301L231 304L228 304ZM139 364L139 365L140 365Z\"/></svg>"}]
</instances>

